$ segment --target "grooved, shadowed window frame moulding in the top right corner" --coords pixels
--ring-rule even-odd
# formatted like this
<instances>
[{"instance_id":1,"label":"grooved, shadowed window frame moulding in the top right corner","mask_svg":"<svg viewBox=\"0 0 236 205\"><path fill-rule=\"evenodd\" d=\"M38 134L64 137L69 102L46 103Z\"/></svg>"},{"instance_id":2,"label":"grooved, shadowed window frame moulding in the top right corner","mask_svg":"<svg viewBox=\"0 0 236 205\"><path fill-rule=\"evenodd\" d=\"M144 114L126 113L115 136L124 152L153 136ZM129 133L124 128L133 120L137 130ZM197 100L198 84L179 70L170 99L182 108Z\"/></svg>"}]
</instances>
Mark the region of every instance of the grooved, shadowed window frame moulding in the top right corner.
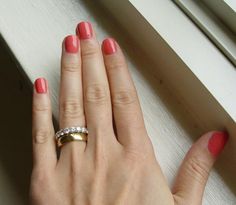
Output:
<instances>
[{"instance_id":1,"label":"grooved, shadowed window frame moulding in the top right corner","mask_svg":"<svg viewBox=\"0 0 236 205\"><path fill-rule=\"evenodd\" d=\"M236 13L232 0L173 0L236 65Z\"/></svg>"}]
</instances>

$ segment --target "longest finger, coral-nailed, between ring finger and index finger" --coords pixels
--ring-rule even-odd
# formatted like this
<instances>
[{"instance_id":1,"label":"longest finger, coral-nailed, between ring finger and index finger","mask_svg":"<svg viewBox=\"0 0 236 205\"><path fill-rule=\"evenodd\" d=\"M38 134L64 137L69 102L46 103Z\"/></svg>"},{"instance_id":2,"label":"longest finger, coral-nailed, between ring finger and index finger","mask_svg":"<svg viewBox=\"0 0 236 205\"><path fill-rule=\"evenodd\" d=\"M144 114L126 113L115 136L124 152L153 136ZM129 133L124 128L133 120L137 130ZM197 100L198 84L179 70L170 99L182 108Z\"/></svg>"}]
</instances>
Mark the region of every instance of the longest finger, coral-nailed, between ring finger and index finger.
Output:
<instances>
[{"instance_id":1,"label":"longest finger, coral-nailed, between ring finger and index finger","mask_svg":"<svg viewBox=\"0 0 236 205\"><path fill-rule=\"evenodd\" d=\"M76 32L81 42L84 108L89 134L96 135L95 141L99 137L111 138L112 135L107 134L113 130L110 91L100 45L89 22L79 23ZM94 138L89 137L89 140Z\"/></svg>"}]
</instances>

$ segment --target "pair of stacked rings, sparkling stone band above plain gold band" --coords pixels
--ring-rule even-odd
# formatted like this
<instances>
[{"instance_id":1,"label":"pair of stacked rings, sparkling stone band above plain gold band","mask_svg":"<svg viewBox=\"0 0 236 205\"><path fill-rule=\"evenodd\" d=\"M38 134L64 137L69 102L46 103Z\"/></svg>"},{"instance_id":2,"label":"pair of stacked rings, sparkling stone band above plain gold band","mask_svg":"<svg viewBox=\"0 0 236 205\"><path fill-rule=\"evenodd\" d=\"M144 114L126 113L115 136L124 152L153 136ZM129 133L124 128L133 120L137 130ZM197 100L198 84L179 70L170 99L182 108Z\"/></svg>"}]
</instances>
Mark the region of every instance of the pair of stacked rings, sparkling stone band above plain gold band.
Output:
<instances>
[{"instance_id":1,"label":"pair of stacked rings, sparkling stone band above plain gold band","mask_svg":"<svg viewBox=\"0 0 236 205\"><path fill-rule=\"evenodd\" d=\"M58 147L71 141L87 141L88 130L85 127L68 127L59 130L56 134Z\"/></svg>"}]
</instances>

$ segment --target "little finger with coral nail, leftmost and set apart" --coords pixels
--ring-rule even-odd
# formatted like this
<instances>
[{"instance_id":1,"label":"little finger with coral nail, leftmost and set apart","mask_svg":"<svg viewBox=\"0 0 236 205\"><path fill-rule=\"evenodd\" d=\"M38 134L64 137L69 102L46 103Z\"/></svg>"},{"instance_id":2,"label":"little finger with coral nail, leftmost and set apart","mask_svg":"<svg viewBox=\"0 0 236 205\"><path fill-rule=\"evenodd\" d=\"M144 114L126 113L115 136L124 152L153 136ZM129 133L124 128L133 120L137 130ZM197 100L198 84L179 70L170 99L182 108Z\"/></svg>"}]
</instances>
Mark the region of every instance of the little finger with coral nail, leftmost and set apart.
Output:
<instances>
[{"instance_id":1,"label":"little finger with coral nail, leftmost and set apart","mask_svg":"<svg viewBox=\"0 0 236 205\"><path fill-rule=\"evenodd\" d=\"M32 110L34 168L45 171L55 167L57 157L48 86L44 78L38 78L34 83Z\"/></svg>"}]
</instances>

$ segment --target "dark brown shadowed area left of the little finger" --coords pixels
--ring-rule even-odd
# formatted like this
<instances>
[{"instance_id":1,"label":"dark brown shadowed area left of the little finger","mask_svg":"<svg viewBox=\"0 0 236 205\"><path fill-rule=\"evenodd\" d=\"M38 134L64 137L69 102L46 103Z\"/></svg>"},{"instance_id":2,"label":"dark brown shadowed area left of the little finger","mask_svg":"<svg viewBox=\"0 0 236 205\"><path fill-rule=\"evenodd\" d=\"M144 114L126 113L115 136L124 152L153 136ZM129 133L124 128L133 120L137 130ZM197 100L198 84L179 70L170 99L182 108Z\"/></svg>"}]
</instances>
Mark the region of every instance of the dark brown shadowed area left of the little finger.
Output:
<instances>
[{"instance_id":1,"label":"dark brown shadowed area left of the little finger","mask_svg":"<svg viewBox=\"0 0 236 205\"><path fill-rule=\"evenodd\" d=\"M24 81L1 40L0 204L5 205L28 204L32 167L31 91Z\"/></svg>"}]
</instances>

